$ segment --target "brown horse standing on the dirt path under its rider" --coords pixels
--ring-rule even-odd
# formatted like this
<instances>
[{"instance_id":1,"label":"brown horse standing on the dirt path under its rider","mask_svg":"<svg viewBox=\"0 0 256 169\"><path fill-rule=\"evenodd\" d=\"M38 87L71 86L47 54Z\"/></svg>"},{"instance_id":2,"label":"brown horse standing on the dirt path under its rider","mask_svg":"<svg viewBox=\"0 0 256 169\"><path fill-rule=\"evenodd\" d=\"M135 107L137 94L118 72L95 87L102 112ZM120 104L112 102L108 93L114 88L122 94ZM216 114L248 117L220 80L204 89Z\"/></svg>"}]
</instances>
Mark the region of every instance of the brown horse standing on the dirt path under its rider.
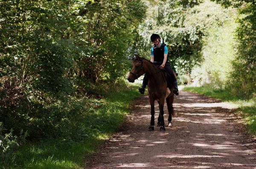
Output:
<instances>
[{"instance_id":1,"label":"brown horse standing on the dirt path under its rider","mask_svg":"<svg viewBox=\"0 0 256 169\"><path fill-rule=\"evenodd\" d=\"M148 97L151 105L151 121L148 129L154 130L154 101L157 100L160 110L157 124L160 124L160 131L166 130L163 119L163 105L166 99L169 112L168 126L171 127L172 115L174 114L172 107L174 100L173 85L170 89L167 88L166 77L163 71L145 58L135 55L132 65L133 67L127 78L129 82L133 83L135 79L138 79L144 73L148 73Z\"/></svg>"}]
</instances>

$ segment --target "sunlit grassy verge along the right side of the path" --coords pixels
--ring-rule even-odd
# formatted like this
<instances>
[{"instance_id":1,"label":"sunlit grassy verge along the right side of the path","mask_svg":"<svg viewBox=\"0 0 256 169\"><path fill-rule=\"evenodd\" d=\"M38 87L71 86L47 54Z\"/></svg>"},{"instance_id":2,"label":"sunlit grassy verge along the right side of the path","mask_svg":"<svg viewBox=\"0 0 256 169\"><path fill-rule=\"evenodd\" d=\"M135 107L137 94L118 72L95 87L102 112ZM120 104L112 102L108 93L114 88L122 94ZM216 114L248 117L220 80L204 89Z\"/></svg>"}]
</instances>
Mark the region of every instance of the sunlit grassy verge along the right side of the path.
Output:
<instances>
[{"instance_id":1,"label":"sunlit grassy verge along the right side of the path","mask_svg":"<svg viewBox=\"0 0 256 169\"><path fill-rule=\"evenodd\" d=\"M248 131L256 135L256 98L242 99L235 96L229 90L215 89L210 86L184 87L183 90L237 104L239 106L237 112L241 113L244 118Z\"/></svg>"}]
</instances>

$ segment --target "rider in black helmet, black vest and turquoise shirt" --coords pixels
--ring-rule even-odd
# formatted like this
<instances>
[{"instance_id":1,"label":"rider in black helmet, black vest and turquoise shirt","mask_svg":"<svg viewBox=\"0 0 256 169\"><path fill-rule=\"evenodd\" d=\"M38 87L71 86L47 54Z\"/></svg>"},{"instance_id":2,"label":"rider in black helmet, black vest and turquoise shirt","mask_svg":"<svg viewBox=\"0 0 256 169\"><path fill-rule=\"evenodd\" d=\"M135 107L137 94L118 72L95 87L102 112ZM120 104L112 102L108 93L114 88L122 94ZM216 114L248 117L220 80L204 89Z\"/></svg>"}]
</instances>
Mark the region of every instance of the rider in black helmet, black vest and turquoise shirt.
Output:
<instances>
[{"instance_id":1,"label":"rider in black helmet, black vest and turquoise shirt","mask_svg":"<svg viewBox=\"0 0 256 169\"><path fill-rule=\"evenodd\" d=\"M171 75L172 79L174 80L173 92L176 95L179 95L177 79L168 61L168 48L166 44L160 43L161 38L158 34L152 34L150 39L151 39L151 42L154 43L154 46L151 48L150 61L154 63L154 65L160 65L160 68L164 68ZM139 88L139 92L141 94L144 94L145 87L147 84L148 84L148 74L145 73L142 86Z\"/></svg>"}]
</instances>

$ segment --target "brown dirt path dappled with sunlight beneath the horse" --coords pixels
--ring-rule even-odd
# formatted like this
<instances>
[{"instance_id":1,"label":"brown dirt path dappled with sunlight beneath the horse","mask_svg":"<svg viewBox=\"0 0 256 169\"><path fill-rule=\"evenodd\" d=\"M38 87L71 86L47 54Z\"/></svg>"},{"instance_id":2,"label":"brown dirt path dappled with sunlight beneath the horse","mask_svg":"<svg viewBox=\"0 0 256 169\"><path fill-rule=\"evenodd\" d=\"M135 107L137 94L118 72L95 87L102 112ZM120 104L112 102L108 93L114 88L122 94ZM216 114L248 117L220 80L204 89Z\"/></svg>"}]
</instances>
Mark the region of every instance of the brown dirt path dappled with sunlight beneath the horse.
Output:
<instances>
[{"instance_id":1,"label":"brown dirt path dappled with sunlight beneath the horse","mask_svg":"<svg viewBox=\"0 0 256 169\"><path fill-rule=\"evenodd\" d=\"M180 92L174 108L173 127L165 132L155 127L150 132L150 105L148 97L142 96L122 130L90 159L87 168L256 169L255 140L244 141L230 115L224 115L230 114L231 105ZM167 122L166 109L165 105Z\"/></svg>"}]
</instances>

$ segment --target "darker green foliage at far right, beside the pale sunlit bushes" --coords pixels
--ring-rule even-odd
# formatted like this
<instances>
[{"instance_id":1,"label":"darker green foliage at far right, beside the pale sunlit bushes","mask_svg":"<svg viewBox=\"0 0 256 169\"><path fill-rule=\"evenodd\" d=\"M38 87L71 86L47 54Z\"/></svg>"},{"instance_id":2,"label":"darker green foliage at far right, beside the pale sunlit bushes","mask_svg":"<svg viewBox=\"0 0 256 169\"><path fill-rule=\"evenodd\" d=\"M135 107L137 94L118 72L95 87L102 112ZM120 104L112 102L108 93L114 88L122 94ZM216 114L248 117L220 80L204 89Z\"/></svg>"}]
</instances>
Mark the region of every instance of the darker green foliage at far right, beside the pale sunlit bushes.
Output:
<instances>
[{"instance_id":1,"label":"darker green foliage at far right, beside the pale sunlit bushes","mask_svg":"<svg viewBox=\"0 0 256 169\"><path fill-rule=\"evenodd\" d=\"M251 98L256 95L256 4L253 0L216 0L224 6L239 8L239 27L236 30L238 41L234 71L229 84L233 93Z\"/></svg>"}]
</instances>

